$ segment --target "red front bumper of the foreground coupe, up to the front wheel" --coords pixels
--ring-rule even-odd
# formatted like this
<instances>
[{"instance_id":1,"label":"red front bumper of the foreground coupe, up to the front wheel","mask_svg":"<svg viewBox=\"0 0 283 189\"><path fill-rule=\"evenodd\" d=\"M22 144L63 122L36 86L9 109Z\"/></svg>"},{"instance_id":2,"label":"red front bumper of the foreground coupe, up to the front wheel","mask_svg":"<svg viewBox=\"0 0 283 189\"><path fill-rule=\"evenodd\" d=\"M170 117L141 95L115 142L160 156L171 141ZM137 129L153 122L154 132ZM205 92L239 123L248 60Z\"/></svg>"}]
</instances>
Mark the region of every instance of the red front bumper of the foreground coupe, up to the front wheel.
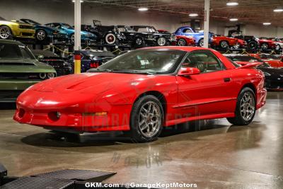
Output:
<instances>
[{"instance_id":1,"label":"red front bumper of the foreground coupe, up to the front wheel","mask_svg":"<svg viewBox=\"0 0 283 189\"><path fill-rule=\"evenodd\" d=\"M131 104L112 105L105 101L97 103L93 98L93 94L86 93L28 90L18 97L13 119L24 124L48 127L51 130L52 128L82 132L129 130ZM60 113L59 118L54 117L57 112ZM93 112L107 112L107 115L93 115Z\"/></svg>"}]
</instances>

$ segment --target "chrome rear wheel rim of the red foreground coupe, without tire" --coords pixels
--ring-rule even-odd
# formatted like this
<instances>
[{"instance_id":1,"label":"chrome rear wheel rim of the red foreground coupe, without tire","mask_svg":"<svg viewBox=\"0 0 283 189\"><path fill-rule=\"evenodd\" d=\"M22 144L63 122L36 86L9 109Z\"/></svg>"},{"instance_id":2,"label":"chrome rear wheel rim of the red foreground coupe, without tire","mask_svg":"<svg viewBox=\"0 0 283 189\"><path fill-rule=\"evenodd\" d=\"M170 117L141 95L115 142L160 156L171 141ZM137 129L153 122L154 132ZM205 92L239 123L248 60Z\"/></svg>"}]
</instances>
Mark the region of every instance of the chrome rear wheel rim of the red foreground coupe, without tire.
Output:
<instances>
[{"instance_id":1,"label":"chrome rear wheel rim of the red foreground coupe, without tire","mask_svg":"<svg viewBox=\"0 0 283 189\"><path fill-rule=\"evenodd\" d=\"M243 120L249 121L255 113L255 97L250 92L243 94L241 98L241 116Z\"/></svg>"}]
</instances>

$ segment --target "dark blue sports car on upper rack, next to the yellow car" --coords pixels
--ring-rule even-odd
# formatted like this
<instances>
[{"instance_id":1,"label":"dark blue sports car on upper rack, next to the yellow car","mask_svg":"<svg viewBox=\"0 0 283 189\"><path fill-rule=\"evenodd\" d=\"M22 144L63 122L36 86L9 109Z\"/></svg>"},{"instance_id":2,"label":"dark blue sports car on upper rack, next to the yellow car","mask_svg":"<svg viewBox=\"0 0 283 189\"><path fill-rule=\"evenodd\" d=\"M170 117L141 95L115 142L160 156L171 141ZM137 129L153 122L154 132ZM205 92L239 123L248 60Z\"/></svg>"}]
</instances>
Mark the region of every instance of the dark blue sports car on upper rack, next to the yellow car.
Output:
<instances>
[{"instance_id":1,"label":"dark blue sports car on upper rack, next to the yellow car","mask_svg":"<svg viewBox=\"0 0 283 189\"><path fill-rule=\"evenodd\" d=\"M35 39L40 43L50 42L68 42L69 35L63 30L57 28L51 28L47 25L42 25L36 21L21 18L20 21L35 26Z\"/></svg>"}]
</instances>

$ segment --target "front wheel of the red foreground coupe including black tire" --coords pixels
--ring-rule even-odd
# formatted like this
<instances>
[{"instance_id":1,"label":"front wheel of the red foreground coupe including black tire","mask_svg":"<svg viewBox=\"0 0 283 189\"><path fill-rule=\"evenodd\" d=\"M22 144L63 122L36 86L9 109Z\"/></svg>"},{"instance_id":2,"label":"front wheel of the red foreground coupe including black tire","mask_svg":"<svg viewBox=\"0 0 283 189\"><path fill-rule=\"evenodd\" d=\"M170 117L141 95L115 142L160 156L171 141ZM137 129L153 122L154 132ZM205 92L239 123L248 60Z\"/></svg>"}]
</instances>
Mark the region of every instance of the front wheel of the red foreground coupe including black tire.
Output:
<instances>
[{"instance_id":1,"label":"front wheel of the red foreground coupe including black tire","mask_svg":"<svg viewBox=\"0 0 283 189\"><path fill-rule=\"evenodd\" d=\"M134 142L151 142L163 128L164 113L155 96L143 96L134 103L130 118L131 137Z\"/></svg>"}]
</instances>

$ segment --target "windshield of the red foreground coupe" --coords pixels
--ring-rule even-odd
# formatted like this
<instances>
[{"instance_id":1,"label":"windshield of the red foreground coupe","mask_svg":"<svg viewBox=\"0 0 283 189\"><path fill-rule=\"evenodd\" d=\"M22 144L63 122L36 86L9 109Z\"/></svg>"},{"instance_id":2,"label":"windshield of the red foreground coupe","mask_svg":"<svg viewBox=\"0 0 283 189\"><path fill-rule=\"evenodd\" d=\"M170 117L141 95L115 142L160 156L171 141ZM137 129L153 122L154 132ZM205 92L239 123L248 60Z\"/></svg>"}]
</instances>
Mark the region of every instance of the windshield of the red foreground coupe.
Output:
<instances>
[{"instance_id":1,"label":"windshield of the red foreground coupe","mask_svg":"<svg viewBox=\"0 0 283 189\"><path fill-rule=\"evenodd\" d=\"M170 74L177 69L186 52L181 50L134 50L98 67L98 71Z\"/></svg>"}]
</instances>

